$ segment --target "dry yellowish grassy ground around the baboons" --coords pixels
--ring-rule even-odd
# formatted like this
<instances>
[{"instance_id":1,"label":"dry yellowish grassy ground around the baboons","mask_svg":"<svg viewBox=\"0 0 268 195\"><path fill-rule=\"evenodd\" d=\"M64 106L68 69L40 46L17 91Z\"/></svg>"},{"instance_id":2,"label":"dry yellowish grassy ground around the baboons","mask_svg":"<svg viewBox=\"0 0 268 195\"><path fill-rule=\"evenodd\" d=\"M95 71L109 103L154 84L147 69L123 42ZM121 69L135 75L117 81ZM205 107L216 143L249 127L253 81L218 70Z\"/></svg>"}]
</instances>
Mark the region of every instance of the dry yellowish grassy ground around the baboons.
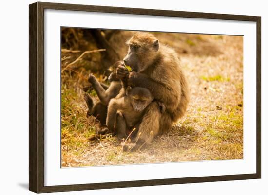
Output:
<instances>
[{"instance_id":1,"label":"dry yellowish grassy ground around the baboons","mask_svg":"<svg viewBox=\"0 0 268 195\"><path fill-rule=\"evenodd\" d=\"M89 141L97 122L86 117L77 75L62 73L62 167L243 158L243 37L154 34L179 54L191 91L186 115L137 151L122 152L116 137Z\"/></svg>"}]
</instances>

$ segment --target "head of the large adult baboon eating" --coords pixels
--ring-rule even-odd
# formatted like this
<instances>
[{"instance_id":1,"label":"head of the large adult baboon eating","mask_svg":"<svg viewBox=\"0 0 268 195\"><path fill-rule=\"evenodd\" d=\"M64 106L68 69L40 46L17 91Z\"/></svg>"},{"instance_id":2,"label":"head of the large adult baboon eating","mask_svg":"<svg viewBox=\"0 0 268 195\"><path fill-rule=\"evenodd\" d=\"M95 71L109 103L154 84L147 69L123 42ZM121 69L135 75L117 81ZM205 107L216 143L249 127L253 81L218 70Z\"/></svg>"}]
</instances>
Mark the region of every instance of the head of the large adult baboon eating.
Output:
<instances>
[{"instance_id":1,"label":"head of the large adult baboon eating","mask_svg":"<svg viewBox=\"0 0 268 195\"><path fill-rule=\"evenodd\" d=\"M158 40L149 33L134 35L128 42L128 53L124 64L130 66L133 71L144 71L150 66L159 49Z\"/></svg>"}]
</instances>

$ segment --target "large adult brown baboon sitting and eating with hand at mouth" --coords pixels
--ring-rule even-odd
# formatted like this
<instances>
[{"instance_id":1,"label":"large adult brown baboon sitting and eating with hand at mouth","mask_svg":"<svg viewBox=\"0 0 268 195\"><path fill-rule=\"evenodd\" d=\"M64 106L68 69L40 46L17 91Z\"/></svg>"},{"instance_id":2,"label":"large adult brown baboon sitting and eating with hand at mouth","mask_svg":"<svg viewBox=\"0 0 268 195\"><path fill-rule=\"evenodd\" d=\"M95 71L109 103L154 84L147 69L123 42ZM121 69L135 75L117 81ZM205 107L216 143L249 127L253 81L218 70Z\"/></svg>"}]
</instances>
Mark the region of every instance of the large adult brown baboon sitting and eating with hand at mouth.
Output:
<instances>
[{"instance_id":1,"label":"large adult brown baboon sitting and eating with hand at mouth","mask_svg":"<svg viewBox=\"0 0 268 195\"><path fill-rule=\"evenodd\" d=\"M160 45L150 33L137 33L127 41L129 50L124 66L117 67L117 77L127 85L149 89L154 99L145 110L139 125L140 141L150 143L157 134L167 131L182 117L189 102L189 89L176 52ZM166 110L161 113L157 102Z\"/></svg>"}]
</instances>

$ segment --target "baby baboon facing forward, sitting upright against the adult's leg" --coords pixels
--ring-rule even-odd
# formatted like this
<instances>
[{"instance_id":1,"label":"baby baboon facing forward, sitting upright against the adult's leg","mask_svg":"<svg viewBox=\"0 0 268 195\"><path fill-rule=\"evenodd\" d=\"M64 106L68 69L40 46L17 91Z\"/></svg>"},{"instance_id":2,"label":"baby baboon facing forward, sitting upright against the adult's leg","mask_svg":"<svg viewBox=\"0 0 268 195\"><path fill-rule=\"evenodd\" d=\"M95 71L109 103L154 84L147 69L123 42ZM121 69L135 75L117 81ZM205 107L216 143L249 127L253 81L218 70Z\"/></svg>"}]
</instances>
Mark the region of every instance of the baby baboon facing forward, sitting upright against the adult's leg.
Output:
<instances>
[{"instance_id":1,"label":"baby baboon facing forward, sitting upright against the adult's leg","mask_svg":"<svg viewBox=\"0 0 268 195\"><path fill-rule=\"evenodd\" d=\"M117 138L126 138L127 130L134 127L142 118L145 108L153 101L146 88L127 87L125 96L114 98L108 106L106 124L116 132Z\"/></svg>"}]
</instances>

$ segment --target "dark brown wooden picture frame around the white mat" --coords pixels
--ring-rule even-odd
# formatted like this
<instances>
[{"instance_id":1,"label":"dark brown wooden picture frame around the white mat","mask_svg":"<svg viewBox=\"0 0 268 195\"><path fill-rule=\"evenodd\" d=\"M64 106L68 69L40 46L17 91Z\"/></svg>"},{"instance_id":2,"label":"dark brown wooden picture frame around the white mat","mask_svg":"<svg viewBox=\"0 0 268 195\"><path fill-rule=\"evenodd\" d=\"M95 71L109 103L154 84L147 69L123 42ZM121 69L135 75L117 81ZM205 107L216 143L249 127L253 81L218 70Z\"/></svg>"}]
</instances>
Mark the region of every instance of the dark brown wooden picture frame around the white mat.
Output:
<instances>
[{"instance_id":1,"label":"dark brown wooden picture frame around the white mat","mask_svg":"<svg viewBox=\"0 0 268 195\"><path fill-rule=\"evenodd\" d=\"M256 173L210 177L186 177L44 186L44 10L72 10L118 14L207 18L256 22L257 33L257 109L256 109ZM171 10L137 9L94 5L36 2L29 5L29 190L36 193L92 190L137 186L170 185L195 182L261 178L261 17Z\"/></svg>"}]
</instances>

